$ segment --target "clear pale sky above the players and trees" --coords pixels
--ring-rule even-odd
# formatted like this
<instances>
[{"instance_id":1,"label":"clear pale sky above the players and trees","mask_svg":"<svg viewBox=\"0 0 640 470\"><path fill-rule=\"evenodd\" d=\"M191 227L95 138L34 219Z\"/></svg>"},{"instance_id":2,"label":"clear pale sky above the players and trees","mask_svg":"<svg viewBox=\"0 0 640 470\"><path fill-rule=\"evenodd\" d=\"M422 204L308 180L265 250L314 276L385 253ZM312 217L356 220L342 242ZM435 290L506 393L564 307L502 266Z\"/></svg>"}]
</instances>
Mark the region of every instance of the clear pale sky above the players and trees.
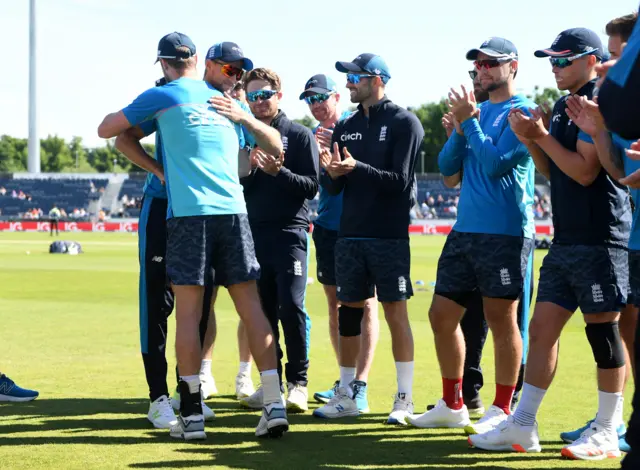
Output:
<instances>
[{"instance_id":1,"label":"clear pale sky above the players and trees","mask_svg":"<svg viewBox=\"0 0 640 470\"><path fill-rule=\"evenodd\" d=\"M516 85L555 87L548 60L533 56L557 34L587 27L601 35L638 0L36 0L38 129L41 137L83 138L103 145L97 127L110 112L129 104L162 76L155 64L159 39L180 31L200 56L210 46L233 41L256 67L282 79L281 108L290 118L310 114L298 99L309 77L336 80L348 103L337 60L371 52L387 62L388 97L419 106L469 82L469 49L491 36L513 41L520 55ZM576 8L579 5L579 8ZM28 135L29 1L0 0L5 53L0 73L0 135Z\"/></svg>"}]
</instances>

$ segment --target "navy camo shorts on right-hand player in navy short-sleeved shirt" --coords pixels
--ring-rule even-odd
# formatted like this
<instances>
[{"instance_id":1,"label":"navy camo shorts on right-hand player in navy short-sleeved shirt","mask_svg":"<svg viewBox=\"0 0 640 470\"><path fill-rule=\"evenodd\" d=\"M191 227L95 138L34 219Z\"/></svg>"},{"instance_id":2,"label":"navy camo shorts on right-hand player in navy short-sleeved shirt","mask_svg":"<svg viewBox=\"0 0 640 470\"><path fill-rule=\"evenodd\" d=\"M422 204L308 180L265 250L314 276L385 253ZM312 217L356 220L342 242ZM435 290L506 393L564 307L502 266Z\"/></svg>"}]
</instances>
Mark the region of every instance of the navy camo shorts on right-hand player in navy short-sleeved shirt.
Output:
<instances>
[{"instance_id":1,"label":"navy camo shorts on right-hand player in navy short-sleeved shirt","mask_svg":"<svg viewBox=\"0 0 640 470\"><path fill-rule=\"evenodd\" d=\"M610 246L552 244L542 261L536 302L575 312L619 312L627 301L629 255Z\"/></svg>"}]
</instances>

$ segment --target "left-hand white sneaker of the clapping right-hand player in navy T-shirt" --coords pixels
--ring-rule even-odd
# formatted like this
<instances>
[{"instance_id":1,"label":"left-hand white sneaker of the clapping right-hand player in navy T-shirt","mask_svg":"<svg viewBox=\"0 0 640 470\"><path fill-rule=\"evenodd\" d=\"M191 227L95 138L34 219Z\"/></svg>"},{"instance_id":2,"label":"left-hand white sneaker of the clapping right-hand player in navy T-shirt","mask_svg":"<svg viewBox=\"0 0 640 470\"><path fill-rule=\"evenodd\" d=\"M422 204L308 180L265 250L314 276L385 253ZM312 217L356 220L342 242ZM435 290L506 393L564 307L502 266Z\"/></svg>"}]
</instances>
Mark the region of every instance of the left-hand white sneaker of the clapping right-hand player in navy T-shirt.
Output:
<instances>
[{"instance_id":1,"label":"left-hand white sneaker of the clapping right-hand player in navy T-shirt","mask_svg":"<svg viewBox=\"0 0 640 470\"><path fill-rule=\"evenodd\" d=\"M512 452L540 452L538 425L520 426L509 416L495 429L484 434L472 434L467 439L478 449Z\"/></svg>"}]
</instances>

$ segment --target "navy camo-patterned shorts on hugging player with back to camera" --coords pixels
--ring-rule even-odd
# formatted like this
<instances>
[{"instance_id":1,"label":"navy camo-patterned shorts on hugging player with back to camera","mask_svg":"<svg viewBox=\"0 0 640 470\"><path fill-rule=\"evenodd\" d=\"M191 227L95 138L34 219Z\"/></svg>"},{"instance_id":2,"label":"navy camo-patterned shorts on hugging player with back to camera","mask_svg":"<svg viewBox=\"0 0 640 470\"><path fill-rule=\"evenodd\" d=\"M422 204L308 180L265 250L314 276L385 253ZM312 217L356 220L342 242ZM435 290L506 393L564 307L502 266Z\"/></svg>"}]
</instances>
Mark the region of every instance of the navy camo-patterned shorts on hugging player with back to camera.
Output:
<instances>
[{"instance_id":1,"label":"navy camo-patterned shorts on hugging player with back to camera","mask_svg":"<svg viewBox=\"0 0 640 470\"><path fill-rule=\"evenodd\" d=\"M225 287L260 278L247 214L167 220L167 274L173 284L204 286L210 273Z\"/></svg>"}]
</instances>

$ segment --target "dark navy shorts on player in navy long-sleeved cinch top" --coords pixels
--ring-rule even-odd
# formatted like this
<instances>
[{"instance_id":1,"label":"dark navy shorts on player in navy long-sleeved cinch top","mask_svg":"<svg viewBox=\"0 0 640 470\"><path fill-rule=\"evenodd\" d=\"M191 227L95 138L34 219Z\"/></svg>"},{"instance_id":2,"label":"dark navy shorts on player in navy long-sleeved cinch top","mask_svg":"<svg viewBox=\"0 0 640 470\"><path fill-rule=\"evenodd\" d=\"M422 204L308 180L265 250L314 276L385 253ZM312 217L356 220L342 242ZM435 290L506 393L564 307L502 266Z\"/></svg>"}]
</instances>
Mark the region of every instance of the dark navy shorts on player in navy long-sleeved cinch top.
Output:
<instances>
[{"instance_id":1,"label":"dark navy shorts on player in navy long-sleeved cinch top","mask_svg":"<svg viewBox=\"0 0 640 470\"><path fill-rule=\"evenodd\" d=\"M336 242L338 300L361 302L377 291L380 302L408 300L411 249L408 239L352 239Z\"/></svg>"}]
</instances>

